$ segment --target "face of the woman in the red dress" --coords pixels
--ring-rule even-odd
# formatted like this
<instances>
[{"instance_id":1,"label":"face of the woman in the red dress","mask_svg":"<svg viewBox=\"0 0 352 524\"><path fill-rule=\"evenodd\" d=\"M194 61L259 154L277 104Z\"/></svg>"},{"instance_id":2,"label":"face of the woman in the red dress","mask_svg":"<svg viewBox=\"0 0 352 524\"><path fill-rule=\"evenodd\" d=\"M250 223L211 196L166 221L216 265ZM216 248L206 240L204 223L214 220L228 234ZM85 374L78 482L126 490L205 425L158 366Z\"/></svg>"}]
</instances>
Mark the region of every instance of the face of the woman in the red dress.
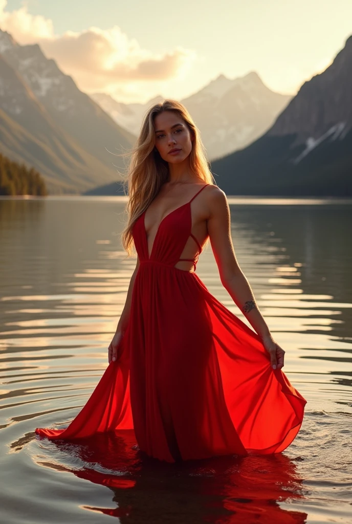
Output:
<instances>
[{"instance_id":1,"label":"face of the woman in the red dress","mask_svg":"<svg viewBox=\"0 0 352 524\"><path fill-rule=\"evenodd\" d=\"M192 150L192 135L188 125L178 113L163 111L154 119L155 147L163 160L180 163ZM173 149L178 151L173 154Z\"/></svg>"}]
</instances>

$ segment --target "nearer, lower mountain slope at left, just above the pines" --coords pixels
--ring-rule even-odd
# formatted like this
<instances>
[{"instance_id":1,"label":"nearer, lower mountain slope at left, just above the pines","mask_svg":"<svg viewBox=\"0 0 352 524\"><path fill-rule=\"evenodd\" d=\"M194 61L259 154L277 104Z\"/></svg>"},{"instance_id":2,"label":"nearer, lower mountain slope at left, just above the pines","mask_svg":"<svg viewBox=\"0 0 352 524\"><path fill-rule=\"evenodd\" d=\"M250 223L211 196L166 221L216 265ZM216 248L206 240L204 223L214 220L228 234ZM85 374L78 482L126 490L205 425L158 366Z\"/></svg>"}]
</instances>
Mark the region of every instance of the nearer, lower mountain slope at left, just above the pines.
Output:
<instances>
[{"instance_id":1,"label":"nearer, lower mountain slope at left, just above the pines","mask_svg":"<svg viewBox=\"0 0 352 524\"><path fill-rule=\"evenodd\" d=\"M97 172L109 169L56 126L20 75L0 54L0 150L35 167L50 192L77 192L95 185ZM114 173L115 174L115 173Z\"/></svg>"}]
</instances>

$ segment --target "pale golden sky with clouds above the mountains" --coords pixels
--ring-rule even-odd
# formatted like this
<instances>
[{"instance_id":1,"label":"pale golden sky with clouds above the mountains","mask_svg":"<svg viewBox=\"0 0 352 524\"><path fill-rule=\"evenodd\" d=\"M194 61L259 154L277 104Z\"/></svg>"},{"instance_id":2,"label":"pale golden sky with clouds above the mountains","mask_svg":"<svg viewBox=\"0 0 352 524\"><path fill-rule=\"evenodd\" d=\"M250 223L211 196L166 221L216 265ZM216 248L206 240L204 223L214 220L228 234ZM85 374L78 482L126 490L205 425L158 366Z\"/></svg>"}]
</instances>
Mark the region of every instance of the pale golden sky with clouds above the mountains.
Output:
<instances>
[{"instance_id":1,"label":"pale golden sky with clouds above the mountains","mask_svg":"<svg viewBox=\"0 0 352 524\"><path fill-rule=\"evenodd\" d=\"M251 71L295 94L352 35L352 0L0 0L0 28L119 102L182 100Z\"/></svg>"}]
</instances>

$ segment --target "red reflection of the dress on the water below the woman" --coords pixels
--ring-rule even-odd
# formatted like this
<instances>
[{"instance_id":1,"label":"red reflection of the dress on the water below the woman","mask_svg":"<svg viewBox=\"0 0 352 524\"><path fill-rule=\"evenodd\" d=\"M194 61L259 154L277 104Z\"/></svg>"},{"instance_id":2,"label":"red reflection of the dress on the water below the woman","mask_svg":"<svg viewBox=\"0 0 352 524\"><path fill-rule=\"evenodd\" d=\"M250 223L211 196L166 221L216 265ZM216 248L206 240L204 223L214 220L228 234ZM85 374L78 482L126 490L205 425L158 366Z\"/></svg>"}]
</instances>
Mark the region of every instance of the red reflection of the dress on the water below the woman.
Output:
<instances>
[{"instance_id":1,"label":"red reflection of the dress on the water below the woman","mask_svg":"<svg viewBox=\"0 0 352 524\"><path fill-rule=\"evenodd\" d=\"M79 445L56 443L61 463L47 467L73 472L108 486L112 504L84 505L119 517L120 522L305 522L306 514L282 509L279 501L299 500L304 488L295 462L282 454L218 457L182 465L155 463L131 449L132 436L99 435ZM62 460L62 457L65 459ZM74 462L74 468L72 468ZM63 465L64 464L64 465ZM80 465L80 468L77 466ZM262 489L258 489L258 482ZM146 516L147 519L146 519Z\"/></svg>"}]
</instances>

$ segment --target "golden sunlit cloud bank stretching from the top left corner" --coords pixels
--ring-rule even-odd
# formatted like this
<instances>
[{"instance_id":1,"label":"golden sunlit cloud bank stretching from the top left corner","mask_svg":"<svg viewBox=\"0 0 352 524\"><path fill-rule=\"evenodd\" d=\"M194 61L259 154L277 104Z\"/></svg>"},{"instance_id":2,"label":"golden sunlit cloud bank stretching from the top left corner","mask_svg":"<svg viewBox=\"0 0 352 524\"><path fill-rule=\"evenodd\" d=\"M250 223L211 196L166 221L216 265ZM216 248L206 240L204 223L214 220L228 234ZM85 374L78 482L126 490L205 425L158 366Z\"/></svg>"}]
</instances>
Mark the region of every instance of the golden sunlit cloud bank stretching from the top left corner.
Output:
<instances>
[{"instance_id":1,"label":"golden sunlit cloud bank stretching from the top left corner","mask_svg":"<svg viewBox=\"0 0 352 524\"><path fill-rule=\"evenodd\" d=\"M134 86L134 92L137 87L152 94L183 78L197 58L194 50L180 46L163 53L142 49L118 26L55 35L52 20L31 15L25 3L12 12L5 11L6 5L7 0L0 0L0 27L21 45L39 43L46 56L86 92L113 93Z\"/></svg>"}]
</instances>

